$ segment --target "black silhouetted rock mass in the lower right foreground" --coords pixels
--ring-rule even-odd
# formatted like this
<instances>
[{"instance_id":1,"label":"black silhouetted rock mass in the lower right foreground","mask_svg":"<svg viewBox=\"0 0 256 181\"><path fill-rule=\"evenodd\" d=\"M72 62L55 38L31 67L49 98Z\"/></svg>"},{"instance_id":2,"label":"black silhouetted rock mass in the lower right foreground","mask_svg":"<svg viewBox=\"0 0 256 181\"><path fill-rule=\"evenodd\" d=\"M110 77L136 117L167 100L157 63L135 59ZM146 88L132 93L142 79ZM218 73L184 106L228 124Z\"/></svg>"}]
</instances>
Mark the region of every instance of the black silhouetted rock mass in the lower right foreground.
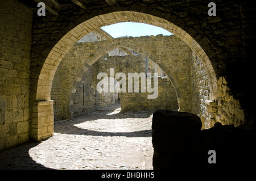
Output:
<instances>
[{"instance_id":1,"label":"black silhouetted rock mass in the lower right foreground","mask_svg":"<svg viewBox=\"0 0 256 181\"><path fill-rule=\"evenodd\" d=\"M249 167L255 163L255 133L216 123L201 131L201 120L188 112L158 110L152 118L154 169ZM213 151L212 151L213 150Z\"/></svg>"}]
</instances>

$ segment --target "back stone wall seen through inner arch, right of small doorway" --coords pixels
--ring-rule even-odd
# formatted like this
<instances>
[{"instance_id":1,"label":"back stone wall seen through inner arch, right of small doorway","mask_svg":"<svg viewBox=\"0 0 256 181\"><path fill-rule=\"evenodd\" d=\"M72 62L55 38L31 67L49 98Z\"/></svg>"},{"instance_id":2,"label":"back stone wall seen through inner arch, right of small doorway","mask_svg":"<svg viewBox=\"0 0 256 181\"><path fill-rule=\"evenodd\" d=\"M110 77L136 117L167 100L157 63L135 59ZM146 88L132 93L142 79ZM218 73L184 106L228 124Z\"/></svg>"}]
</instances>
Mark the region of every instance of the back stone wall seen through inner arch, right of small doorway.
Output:
<instances>
[{"instance_id":1,"label":"back stone wall seen through inner arch, right of small doorway","mask_svg":"<svg viewBox=\"0 0 256 181\"><path fill-rule=\"evenodd\" d=\"M97 63L107 70L109 68L114 68L115 74L118 72L125 73L127 79L126 86L128 86L128 73L146 73L146 60L147 58L143 56L110 56L108 57L108 60L105 61L106 63L104 61ZM107 64L108 66L104 66L104 64ZM152 60L149 61L147 68L149 70L155 68L155 64ZM159 70L159 68L156 69L156 71L157 70ZM151 73L154 73L154 71L151 71ZM151 81L151 85L153 85L153 77L151 78ZM178 110L179 108L176 92L167 77L159 76L158 97L156 99L148 99L147 90L146 92L141 92L141 79L139 79L139 92L128 92L126 87L126 92L121 92L119 94L122 111L157 110L159 108Z\"/></svg>"}]
</instances>

